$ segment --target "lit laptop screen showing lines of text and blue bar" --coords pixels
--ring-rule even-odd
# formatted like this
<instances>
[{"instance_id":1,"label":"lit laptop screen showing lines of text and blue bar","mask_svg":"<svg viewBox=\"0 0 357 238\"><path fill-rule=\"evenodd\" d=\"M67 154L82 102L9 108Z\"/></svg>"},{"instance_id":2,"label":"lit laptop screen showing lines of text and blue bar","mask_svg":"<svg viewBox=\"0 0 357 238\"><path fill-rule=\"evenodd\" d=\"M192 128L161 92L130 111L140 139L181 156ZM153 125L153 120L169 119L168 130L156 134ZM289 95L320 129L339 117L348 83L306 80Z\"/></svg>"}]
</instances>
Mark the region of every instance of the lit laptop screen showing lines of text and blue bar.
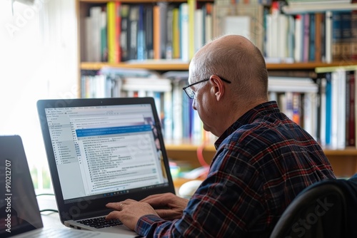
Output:
<instances>
[{"instance_id":1,"label":"lit laptop screen showing lines of text and blue bar","mask_svg":"<svg viewBox=\"0 0 357 238\"><path fill-rule=\"evenodd\" d=\"M46 118L65 202L168 185L150 104L46 108Z\"/></svg>"}]
</instances>

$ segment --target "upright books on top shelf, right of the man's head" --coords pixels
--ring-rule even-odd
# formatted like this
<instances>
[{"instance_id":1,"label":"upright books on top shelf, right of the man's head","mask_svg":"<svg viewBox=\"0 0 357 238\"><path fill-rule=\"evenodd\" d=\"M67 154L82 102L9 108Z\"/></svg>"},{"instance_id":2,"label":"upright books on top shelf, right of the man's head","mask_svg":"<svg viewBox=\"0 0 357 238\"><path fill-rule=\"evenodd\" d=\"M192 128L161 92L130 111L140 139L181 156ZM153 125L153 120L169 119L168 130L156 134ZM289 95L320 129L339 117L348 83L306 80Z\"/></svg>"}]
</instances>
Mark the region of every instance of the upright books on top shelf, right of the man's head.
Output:
<instances>
[{"instance_id":1,"label":"upright books on top shelf, right of the man's head","mask_svg":"<svg viewBox=\"0 0 357 238\"><path fill-rule=\"evenodd\" d=\"M276 3L276 2L275 2ZM281 14L277 4L266 14L265 54L288 62L351 61L357 58L357 12Z\"/></svg>"}]
</instances>

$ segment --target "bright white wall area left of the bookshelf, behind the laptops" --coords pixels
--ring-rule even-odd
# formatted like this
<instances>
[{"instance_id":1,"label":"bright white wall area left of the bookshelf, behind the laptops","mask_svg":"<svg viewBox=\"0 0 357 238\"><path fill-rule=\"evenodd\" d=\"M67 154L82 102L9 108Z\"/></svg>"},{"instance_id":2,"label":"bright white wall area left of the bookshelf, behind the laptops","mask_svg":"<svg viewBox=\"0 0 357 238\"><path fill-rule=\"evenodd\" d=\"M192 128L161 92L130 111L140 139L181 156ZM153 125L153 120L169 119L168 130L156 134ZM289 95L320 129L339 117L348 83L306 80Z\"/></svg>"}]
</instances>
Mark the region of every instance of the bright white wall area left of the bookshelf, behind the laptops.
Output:
<instances>
[{"instance_id":1,"label":"bright white wall area left of the bookshelf, behind the laptops","mask_svg":"<svg viewBox=\"0 0 357 238\"><path fill-rule=\"evenodd\" d=\"M77 33L74 0L0 1L0 134L18 134L29 166L47 167L36 110L41 98L74 98Z\"/></svg>"}]
</instances>

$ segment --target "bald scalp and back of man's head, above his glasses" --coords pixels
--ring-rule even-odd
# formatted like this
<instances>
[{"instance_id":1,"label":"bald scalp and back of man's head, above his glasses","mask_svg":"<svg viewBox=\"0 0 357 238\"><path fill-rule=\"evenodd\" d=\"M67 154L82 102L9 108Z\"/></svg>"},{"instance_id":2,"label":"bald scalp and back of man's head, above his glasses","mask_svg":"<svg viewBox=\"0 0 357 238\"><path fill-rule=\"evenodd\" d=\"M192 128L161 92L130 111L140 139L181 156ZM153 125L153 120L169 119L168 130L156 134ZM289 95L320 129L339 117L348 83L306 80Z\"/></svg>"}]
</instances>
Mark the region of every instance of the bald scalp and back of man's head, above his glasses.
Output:
<instances>
[{"instance_id":1,"label":"bald scalp and back of man's head, above his glasses","mask_svg":"<svg viewBox=\"0 0 357 238\"><path fill-rule=\"evenodd\" d=\"M230 87L237 98L246 102L267 100L268 73L264 58L261 51L243 36L216 38L196 53L192 63L193 81L214 74L232 82Z\"/></svg>"}]
</instances>

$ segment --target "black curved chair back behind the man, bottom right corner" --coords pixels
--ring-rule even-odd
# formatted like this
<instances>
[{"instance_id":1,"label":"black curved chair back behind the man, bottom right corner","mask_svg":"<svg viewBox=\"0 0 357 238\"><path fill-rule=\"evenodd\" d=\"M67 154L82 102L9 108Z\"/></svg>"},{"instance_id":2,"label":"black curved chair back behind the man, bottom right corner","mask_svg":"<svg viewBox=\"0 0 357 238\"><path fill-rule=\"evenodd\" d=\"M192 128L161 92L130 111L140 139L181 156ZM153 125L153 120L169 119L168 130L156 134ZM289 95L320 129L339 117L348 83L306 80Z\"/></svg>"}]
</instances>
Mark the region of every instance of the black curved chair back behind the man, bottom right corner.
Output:
<instances>
[{"instance_id":1,"label":"black curved chair back behind the man, bottom right corner","mask_svg":"<svg viewBox=\"0 0 357 238\"><path fill-rule=\"evenodd\" d=\"M306 187L288 205L270 237L357 237L357 174Z\"/></svg>"}]
</instances>

